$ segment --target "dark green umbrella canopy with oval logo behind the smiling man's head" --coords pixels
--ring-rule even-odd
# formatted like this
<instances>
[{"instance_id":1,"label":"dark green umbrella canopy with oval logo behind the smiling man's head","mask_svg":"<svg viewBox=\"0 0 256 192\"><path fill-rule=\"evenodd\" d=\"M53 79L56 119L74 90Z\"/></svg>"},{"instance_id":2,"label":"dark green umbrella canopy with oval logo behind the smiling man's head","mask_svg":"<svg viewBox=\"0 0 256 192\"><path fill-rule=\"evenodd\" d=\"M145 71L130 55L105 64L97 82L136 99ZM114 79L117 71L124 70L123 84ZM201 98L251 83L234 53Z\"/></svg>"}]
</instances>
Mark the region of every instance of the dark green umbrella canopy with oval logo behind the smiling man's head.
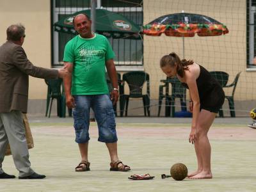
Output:
<instances>
[{"instance_id":1,"label":"dark green umbrella canopy with oval logo behind the smiling man's head","mask_svg":"<svg viewBox=\"0 0 256 192\"><path fill-rule=\"evenodd\" d=\"M76 31L73 28L73 18L80 13L86 13L86 15L90 17L91 10L76 12L65 19L59 20L54 24L54 30L63 33L76 34ZM140 39L139 26L123 15L109 12L108 10L96 9L95 29L97 33L107 37Z\"/></svg>"}]
</instances>

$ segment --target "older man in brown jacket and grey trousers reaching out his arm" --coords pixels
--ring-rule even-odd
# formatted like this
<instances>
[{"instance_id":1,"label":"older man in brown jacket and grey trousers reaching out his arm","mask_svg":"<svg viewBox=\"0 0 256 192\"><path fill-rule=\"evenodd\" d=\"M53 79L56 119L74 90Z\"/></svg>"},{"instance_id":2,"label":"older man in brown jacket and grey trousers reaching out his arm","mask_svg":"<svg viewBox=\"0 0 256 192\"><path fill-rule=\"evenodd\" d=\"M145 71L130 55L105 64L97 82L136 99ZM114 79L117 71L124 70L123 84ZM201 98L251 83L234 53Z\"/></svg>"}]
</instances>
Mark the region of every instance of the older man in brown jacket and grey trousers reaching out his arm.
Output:
<instances>
[{"instance_id":1,"label":"older man in brown jacket and grey trousers reaching out his arm","mask_svg":"<svg viewBox=\"0 0 256 192\"><path fill-rule=\"evenodd\" d=\"M19 179L43 179L30 167L22 113L28 109L29 76L38 78L64 77L65 68L59 70L35 67L27 58L22 44L25 28L21 24L9 26L7 41L0 47L0 179L12 179L2 169L8 143Z\"/></svg>"}]
</instances>

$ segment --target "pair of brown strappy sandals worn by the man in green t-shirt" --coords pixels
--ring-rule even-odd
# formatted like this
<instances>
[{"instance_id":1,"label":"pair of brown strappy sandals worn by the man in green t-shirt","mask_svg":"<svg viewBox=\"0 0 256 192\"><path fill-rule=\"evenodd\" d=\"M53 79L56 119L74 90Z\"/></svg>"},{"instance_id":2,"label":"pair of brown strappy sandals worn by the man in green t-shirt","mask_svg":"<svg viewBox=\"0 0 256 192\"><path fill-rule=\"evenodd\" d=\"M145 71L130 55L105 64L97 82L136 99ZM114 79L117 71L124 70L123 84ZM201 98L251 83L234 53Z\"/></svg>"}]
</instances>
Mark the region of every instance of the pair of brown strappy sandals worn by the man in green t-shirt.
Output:
<instances>
[{"instance_id":1,"label":"pair of brown strappy sandals worn by the man in green t-shirt","mask_svg":"<svg viewBox=\"0 0 256 192\"><path fill-rule=\"evenodd\" d=\"M121 164L120 166L118 166ZM123 164L122 161L116 161L115 163L110 163L110 171L113 172L128 172L131 170L129 166ZM90 171L90 162L88 161L81 161L81 163L76 166L76 172L87 172Z\"/></svg>"}]
</instances>

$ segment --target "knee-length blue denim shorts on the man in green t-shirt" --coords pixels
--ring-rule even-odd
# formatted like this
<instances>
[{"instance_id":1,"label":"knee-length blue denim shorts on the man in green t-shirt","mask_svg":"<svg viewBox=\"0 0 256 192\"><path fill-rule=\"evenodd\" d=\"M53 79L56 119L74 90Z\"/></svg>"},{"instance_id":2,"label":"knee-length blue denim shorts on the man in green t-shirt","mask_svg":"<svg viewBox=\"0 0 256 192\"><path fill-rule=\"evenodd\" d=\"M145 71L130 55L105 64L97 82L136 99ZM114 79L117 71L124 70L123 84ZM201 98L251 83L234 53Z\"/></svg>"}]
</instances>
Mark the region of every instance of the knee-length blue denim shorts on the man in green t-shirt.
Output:
<instances>
[{"instance_id":1,"label":"knee-length blue denim shorts on the man in green t-shirt","mask_svg":"<svg viewBox=\"0 0 256 192\"><path fill-rule=\"evenodd\" d=\"M90 108L93 109L99 129L98 141L115 143L116 123L113 104L109 94L105 95L74 95L75 108L73 110L76 142L87 143L89 137Z\"/></svg>"}]
</instances>

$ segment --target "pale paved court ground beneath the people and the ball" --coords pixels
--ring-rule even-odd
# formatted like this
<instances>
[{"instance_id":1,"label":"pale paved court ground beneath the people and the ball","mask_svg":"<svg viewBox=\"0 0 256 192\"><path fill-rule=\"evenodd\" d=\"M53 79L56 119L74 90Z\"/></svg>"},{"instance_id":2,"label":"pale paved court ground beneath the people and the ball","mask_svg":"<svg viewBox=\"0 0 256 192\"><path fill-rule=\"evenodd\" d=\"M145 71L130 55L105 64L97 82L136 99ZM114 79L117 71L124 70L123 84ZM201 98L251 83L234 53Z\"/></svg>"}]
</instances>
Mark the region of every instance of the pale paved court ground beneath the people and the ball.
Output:
<instances>
[{"instance_id":1,"label":"pale paved court ground beneath the people and the ball","mask_svg":"<svg viewBox=\"0 0 256 192\"><path fill-rule=\"evenodd\" d=\"M131 172L109 172L104 143L97 141L97 126L90 128L90 172L74 172L79 151L72 118L29 116L35 148L33 169L44 180L0 180L0 191L256 191L256 130L250 118L217 118L209 132L213 179L161 179L174 163L195 170L195 152L188 142L189 118L116 118L120 159ZM11 156L4 159L7 173L17 175ZM150 173L153 180L129 180L132 174Z\"/></svg>"}]
</instances>

